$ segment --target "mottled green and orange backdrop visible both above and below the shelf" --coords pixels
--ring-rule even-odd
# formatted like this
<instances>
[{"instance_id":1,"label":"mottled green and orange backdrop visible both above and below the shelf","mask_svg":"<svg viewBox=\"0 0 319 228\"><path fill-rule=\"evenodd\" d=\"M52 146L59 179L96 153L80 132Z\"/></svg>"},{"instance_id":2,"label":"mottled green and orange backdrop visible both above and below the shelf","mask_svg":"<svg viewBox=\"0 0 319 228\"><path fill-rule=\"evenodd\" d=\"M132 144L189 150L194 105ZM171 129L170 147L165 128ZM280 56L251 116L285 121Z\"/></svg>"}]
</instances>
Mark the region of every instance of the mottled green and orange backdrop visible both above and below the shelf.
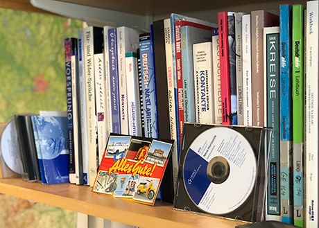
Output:
<instances>
[{"instance_id":1,"label":"mottled green and orange backdrop visible both above and below the shelf","mask_svg":"<svg viewBox=\"0 0 319 228\"><path fill-rule=\"evenodd\" d=\"M82 21L0 8L0 122L66 110L64 38ZM76 213L0 195L0 227L74 228Z\"/></svg>"}]
</instances>

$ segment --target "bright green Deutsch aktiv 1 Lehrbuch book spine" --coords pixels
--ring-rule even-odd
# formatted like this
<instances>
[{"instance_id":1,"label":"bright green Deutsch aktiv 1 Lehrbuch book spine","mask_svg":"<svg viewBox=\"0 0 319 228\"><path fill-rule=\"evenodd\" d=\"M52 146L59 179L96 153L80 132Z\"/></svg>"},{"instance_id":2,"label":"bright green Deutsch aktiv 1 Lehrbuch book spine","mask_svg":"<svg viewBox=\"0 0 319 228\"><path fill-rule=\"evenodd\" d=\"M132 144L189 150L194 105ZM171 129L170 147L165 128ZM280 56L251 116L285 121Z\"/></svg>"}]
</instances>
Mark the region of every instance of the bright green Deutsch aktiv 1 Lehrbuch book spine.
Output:
<instances>
[{"instance_id":1,"label":"bright green Deutsch aktiv 1 Lehrbuch book spine","mask_svg":"<svg viewBox=\"0 0 319 228\"><path fill-rule=\"evenodd\" d=\"M293 5L293 222L304 227L304 7Z\"/></svg>"}]
</instances>

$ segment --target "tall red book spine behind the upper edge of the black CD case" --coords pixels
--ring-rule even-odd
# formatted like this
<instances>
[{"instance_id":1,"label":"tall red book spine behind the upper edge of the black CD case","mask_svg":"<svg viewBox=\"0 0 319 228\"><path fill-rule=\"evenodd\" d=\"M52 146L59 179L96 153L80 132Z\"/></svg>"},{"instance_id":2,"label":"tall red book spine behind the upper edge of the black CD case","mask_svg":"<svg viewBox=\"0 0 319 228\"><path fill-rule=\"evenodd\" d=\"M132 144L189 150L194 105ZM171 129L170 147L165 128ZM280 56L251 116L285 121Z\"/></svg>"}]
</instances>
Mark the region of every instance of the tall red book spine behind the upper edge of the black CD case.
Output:
<instances>
[{"instance_id":1,"label":"tall red book spine behind the upper edge of the black CD case","mask_svg":"<svg viewBox=\"0 0 319 228\"><path fill-rule=\"evenodd\" d=\"M219 58L221 64L222 124L230 125L230 58L228 50L227 12L218 12Z\"/></svg>"}]
</instances>

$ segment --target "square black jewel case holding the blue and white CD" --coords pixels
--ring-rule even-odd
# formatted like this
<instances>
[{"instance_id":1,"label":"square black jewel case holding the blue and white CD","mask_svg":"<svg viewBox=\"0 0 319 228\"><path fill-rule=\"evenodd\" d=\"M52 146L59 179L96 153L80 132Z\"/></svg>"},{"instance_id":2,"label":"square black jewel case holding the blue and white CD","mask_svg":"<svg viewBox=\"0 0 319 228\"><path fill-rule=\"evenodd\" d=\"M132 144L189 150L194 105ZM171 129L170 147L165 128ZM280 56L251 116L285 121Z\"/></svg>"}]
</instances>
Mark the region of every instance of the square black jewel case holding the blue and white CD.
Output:
<instances>
[{"instance_id":1,"label":"square black jewel case holding the blue and white CD","mask_svg":"<svg viewBox=\"0 0 319 228\"><path fill-rule=\"evenodd\" d=\"M174 208L250 222L261 220L267 131L185 123Z\"/></svg>"}]
</instances>

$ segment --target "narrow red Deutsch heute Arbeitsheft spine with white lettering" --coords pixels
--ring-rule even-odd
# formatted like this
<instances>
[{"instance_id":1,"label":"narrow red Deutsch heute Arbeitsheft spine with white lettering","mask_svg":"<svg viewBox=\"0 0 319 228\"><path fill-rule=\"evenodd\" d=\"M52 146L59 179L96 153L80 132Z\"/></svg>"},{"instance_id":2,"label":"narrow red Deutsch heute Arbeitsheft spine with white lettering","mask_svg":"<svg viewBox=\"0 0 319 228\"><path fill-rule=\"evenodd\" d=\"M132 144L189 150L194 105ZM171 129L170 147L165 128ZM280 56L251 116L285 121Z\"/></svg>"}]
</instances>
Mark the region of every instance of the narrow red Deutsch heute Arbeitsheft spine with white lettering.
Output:
<instances>
[{"instance_id":1,"label":"narrow red Deutsch heute Arbeitsheft spine with white lettering","mask_svg":"<svg viewBox=\"0 0 319 228\"><path fill-rule=\"evenodd\" d=\"M178 89L178 127L180 128L180 141L184 125L184 100L183 100L183 77L182 77L182 41L180 37L180 26L182 21L175 21L175 62Z\"/></svg>"}]
</instances>

